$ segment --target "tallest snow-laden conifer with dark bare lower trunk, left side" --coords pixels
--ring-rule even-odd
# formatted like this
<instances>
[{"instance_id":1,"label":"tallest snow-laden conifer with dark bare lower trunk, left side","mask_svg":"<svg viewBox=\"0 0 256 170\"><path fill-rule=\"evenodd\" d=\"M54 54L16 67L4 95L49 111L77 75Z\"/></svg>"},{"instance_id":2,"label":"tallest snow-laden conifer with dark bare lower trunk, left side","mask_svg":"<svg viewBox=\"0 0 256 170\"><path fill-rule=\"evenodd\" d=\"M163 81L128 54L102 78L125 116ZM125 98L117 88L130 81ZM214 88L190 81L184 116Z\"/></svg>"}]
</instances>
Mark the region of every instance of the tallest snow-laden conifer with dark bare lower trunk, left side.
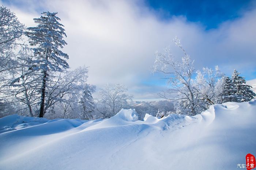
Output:
<instances>
[{"instance_id":1,"label":"tallest snow-laden conifer with dark bare lower trunk, left side","mask_svg":"<svg viewBox=\"0 0 256 170\"><path fill-rule=\"evenodd\" d=\"M57 12L42 12L40 18L35 18L36 27L27 28L25 35L29 38L31 46L35 46L34 59L30 70L37 70L41 73L41 101L39 117L45 113L45 93L49 84L50 77L55 72L61 72L69 67L67 61L68 54L63 53L60 49L67 45L63 36L65 30L63 24L58 21Z\"/></svg>"}]
</instances>

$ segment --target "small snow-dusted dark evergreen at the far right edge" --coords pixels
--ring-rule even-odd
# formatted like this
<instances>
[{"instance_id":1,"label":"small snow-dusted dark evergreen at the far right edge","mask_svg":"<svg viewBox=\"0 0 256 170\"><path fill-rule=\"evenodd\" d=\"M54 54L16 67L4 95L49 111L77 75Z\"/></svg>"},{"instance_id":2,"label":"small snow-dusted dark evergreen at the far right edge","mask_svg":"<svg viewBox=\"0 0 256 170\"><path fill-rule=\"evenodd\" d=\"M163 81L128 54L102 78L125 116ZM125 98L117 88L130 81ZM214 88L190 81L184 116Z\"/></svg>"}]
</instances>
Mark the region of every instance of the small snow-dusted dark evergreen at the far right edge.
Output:
<instances>
[{"instance_id":1,"label":"small snow-dusted dark evergreen at the far right edge","mask_svg":"<svg viewBox=\"0 0 256 170\"><path fill-rule=\"evenodd\" d=\"M234 84L234 90L236 92L236 98L234 98L234 101L250 101L256 96L256 94L251 90L252 86L246 84L245 77L241 77L239 75L240 73L238 73L237 70L234 70L231 77Z\"/></svg>"}]
</instances>

